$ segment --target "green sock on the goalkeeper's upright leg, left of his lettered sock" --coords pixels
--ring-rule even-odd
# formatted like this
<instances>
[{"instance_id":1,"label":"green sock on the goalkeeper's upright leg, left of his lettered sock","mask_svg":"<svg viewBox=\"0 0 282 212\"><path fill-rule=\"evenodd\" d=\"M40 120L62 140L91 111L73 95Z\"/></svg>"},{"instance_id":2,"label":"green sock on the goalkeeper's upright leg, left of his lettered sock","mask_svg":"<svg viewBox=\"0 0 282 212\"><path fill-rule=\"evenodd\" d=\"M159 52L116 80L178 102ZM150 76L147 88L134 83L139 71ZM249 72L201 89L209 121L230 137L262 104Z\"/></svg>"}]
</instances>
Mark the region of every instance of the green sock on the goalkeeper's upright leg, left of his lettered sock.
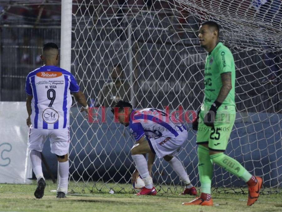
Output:
<instances>
[{"instance_id":1,"label":"green sock on the goalkeeper's upright leg, left of his lettered sock","mask_svg":"<svg viewBox=\"0 0 282 212\"><path fill-rule=\"evenodd\" d=\"M213 165L209 155L209 149L202 145L198 145L198 160L201 192L211 194Z\"/></svg>"}]
</instances>

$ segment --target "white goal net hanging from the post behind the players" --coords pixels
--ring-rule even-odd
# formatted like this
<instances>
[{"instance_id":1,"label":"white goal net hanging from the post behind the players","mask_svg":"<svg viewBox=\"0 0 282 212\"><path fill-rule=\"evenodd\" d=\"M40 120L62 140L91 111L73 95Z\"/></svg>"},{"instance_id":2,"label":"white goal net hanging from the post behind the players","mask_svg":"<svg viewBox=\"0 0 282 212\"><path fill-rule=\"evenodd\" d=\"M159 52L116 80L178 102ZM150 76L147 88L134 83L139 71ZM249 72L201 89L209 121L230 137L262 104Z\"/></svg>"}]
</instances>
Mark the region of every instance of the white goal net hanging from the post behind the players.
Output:
<instances>
[{"instance_id":1,"label":"white goal net hanging from the post behind the players","mask_svg":"<svg viewBox=\"0 0 282 212\"><path fill-rule=\"evenodd\" d=\"M207 53L197 30L204 20L221 26L220 41L232 51L236 65L237 114L225 153L263 177L263 192L281 190L282 6L275 0L258 2L264 1L73 1L71 72L89 105L100 108L93 110L98 122L85 120L79 105L72 108L71 192L132 191L134 141L128 128L113 121L109 107L117 100L138 109L199 109ZM196 132L191 123L185 126L189 137L177 157L199 188ZM155 160L153 181L159 192L183 189L165 160ZM218 166L212 187L247 190L245 182Z\"/></svg>"}]
</instances>

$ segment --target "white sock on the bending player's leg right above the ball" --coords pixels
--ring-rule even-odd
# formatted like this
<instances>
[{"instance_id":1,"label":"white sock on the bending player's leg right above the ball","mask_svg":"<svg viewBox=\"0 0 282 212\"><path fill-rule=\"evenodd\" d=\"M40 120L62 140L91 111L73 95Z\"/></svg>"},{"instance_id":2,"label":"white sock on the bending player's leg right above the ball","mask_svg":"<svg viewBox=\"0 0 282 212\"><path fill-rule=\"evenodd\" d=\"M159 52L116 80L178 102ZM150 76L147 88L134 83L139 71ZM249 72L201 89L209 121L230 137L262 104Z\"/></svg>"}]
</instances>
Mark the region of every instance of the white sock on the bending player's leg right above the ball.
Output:
<instances>
[{"instance_id":1,"label":"white sock on the bending player's leg right above the ball","mask_svg":"<svg viewBox=\"0 0 282 212\"><path fill-rule=\"evenodd\" d=\"M153 188L153 180L152 177L150 177L147 160L144 155L132 155L132 158L134 160L137 171L139 172L145 183L145 188Z\"/></svg>"}]
</instances>

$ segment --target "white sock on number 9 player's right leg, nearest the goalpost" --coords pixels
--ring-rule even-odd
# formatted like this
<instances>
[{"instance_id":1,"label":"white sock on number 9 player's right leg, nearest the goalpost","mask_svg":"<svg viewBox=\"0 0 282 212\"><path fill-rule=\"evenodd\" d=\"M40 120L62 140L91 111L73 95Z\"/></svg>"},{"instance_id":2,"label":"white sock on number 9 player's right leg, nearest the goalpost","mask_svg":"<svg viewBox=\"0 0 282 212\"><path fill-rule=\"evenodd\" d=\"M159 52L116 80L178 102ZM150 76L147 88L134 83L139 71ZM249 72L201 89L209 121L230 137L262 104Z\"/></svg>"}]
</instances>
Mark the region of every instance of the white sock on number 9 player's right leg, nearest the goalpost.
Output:
<instances>
[{"instance_id":1,"label":"white sock on number 9 player's right leg, nearest the goalpost","mask_svg":"<svg viewBox=\"0 0 282 212\"><path fill-rule=\"evenodd\" d=\"M65 194L68 193L68 180L69 180L69 160L59 162L59 185L57 192L61 191Z\"/></svg>"}]
</instances>

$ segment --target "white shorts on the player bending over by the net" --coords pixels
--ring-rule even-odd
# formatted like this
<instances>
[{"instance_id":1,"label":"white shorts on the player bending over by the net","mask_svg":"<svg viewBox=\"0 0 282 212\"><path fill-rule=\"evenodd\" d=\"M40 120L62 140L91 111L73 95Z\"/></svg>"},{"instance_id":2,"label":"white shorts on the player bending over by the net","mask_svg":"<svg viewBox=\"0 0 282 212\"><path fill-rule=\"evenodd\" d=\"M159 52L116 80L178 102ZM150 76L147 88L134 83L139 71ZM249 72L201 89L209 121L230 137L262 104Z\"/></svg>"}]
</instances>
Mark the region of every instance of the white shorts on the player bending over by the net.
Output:
<instances>
[{"instance_id":1,"label":"white shorts on the player bending over by the net","mask_svg":"<svg viewBox=\"0 0 282 212\"><path fill-rule=\"evenodd\" d=\"M154 149L154 152L156 153L158 158L163 158L165 155L176 155L180 151L181 146L187 140L187 138L188 132L184 130L175 138L164 136L150 138L149 144L151 149Z\"/></svg>"}]
</instances>

